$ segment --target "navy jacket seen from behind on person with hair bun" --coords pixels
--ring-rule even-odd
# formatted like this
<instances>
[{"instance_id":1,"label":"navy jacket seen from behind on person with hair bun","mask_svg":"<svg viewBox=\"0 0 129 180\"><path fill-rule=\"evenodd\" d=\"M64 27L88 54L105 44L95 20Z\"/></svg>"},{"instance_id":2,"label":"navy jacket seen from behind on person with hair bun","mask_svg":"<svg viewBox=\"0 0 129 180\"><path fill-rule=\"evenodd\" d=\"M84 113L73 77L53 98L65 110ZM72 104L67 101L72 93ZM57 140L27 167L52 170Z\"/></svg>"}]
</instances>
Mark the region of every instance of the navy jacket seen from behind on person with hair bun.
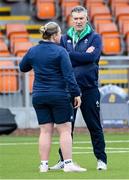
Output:
<instances>
[{"instance_id":1,"label":"navy jacket seen from behind on person with hair bun","mask_svg":"<svg viewBox=\"0 0 129 180\"><path fill-rule=\"evenodd\" d=\"M34 70L33 96L66 94L68 90L74 97L80 95L67 51L53 42L40 41L30 48L19 66L22 72Z\"/></svg>"}]
</instances>

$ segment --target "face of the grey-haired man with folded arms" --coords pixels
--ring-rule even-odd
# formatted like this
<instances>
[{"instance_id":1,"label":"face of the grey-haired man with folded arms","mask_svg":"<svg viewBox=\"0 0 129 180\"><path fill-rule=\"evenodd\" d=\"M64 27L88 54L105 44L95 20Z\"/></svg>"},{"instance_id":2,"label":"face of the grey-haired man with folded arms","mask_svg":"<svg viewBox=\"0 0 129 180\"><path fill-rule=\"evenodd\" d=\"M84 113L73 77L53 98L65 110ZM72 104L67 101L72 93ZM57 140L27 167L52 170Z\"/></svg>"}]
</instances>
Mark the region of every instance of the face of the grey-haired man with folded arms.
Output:
<instances>
[{"instance_id":1,"label":"face of the grey-haired man with folded arms","mask_svg":"<svg viewBox=\"0 0 129 180\"><path fill-rule=\"evenodd\" d=\"M72 13L72 25L76 31L82 31L87 23L86 12L73 12Z\"/></svg>"}]
</instances>

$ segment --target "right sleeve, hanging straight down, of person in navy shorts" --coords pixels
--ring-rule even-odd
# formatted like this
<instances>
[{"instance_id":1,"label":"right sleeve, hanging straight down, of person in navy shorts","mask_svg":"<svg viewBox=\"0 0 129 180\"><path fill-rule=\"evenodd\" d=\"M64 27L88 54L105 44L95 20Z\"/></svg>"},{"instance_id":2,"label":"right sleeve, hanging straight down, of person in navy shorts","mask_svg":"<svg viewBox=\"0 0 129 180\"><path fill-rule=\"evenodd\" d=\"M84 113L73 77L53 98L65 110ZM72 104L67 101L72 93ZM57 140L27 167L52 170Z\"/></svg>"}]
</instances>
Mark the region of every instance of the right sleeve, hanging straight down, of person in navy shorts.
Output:
<instances>
[{"instance_id":1,"label":"right sleeve, hanging straight down, of person in navy shorts","mask_svg":"<svg viewBox=\"0 0 129 180\"><path fill-rule=\"evenodd\" d=\"M71 96L80 96L80 89L74 76L69 55L65 49L61 51L61 70Z\"/></svg>"}]
</instances>

